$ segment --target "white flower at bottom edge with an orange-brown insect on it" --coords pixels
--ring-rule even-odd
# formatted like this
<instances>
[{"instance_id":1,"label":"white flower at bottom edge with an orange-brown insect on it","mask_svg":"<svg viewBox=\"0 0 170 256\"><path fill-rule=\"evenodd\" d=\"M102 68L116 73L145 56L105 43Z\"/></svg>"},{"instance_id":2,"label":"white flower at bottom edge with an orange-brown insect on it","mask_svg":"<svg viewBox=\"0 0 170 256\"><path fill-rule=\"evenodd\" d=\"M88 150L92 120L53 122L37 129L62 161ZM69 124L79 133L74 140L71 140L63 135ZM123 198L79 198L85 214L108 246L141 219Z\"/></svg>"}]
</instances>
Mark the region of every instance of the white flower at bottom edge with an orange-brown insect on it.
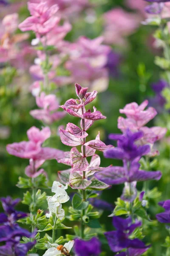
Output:
<instances>
[{"instance_id":1,"label":"white flower at bottom edge with an orange-brown insect on it","mask_svg":"<svg viewBox=\"0 0 170 256\"><path fill-rule=\"evenodd\" d=\"M58 245L57 247L51 247L43 254L43 256L60 256L65 255L65 253L69 253L74 245L74 241L69 241L68 243L62 245ZM62 252L63 251L63 252Z\"/></svg>"}]
</instances>

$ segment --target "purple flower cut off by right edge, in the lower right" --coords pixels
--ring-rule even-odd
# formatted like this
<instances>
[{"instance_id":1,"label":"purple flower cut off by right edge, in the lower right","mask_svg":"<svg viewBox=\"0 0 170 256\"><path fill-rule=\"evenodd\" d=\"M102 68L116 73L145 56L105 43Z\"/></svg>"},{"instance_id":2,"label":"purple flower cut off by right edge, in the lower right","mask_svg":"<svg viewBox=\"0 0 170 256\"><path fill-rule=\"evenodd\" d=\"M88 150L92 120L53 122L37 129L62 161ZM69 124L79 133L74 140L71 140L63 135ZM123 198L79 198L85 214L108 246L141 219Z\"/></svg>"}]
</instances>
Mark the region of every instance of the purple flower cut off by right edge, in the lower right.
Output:
<instances>
[{"instance_id":1,"label":"purple flower cut off by right edge, in the lower right","mask_svg":"<svg viewBox=\"0 0 170 256\"><path fill-rule=\"evenodd\" d=\"M156 214L156 218L161 223L170 223L170 200L161 201L159 205L165 209L165 212Z\"/></svg>"}]
</instances>

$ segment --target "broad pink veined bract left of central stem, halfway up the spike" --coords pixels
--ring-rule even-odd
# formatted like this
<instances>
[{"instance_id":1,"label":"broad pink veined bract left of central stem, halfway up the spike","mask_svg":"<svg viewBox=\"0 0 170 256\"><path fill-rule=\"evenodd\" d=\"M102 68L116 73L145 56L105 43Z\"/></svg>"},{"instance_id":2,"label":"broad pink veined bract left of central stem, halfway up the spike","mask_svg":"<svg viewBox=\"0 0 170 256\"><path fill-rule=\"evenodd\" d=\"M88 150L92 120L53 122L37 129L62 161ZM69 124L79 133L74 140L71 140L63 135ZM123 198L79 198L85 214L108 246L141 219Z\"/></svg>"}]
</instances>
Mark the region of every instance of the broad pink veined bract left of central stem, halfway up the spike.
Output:
<instances>
[{"instance_id":1,"label":"broad pink veined bract left of central stem, halfway up the spike","mask_svg":"<svg viewBox=\"0 0 170 256\"><path fill-rule=\"evenodd\" d=\"M69 133L68 131L65 131L64 129L60 129L59 131L60 138L63 144L75 147L78 145L82 145L82 140L80 138L77 138L73 134Z\"/></svg>"}]
</instances>

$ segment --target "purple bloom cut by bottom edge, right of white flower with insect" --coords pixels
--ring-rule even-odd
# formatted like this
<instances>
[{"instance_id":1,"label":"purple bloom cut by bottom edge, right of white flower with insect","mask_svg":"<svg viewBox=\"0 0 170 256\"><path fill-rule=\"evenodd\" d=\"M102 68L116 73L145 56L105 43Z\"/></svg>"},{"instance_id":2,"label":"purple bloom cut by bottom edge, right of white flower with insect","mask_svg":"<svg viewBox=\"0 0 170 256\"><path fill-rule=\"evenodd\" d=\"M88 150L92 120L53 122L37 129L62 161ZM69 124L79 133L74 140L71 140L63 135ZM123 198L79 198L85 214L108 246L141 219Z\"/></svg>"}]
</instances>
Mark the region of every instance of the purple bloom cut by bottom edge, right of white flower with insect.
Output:
<instances>
[{"instance_id":1,"label":"purple bloom cut by bottom edge, right of white flower with insect","mask_svg":"<svg viewBox=\"0 0 170 256\"><path fill-rule=\"evenodd\" d=\"M77 256L99 256L101 253L101 243L96 237L89 241L76 239L74 250Z\"/></svg>"}]
</instances>

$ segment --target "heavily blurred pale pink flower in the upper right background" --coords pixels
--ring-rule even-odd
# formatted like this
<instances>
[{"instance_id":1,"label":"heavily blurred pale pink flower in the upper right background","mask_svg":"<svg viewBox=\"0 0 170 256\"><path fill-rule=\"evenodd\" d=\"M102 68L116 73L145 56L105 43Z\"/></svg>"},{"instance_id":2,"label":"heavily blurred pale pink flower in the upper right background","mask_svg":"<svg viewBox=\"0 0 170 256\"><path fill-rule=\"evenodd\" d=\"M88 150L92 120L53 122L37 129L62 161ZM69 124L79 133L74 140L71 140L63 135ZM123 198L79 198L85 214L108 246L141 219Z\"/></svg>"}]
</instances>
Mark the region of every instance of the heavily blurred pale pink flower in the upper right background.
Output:
<instances>
[{"instance_id":1,"label":"heavily blurred pale pink flower in the upper right background","mask_svg":"<svg viewBox=\"0 0 170 256\"><path fill-rule=\"evenodd\" d=\"M141 17L137 14L115 8L104 14L105 31L103 36L107 44L125 44L125 37L135 32Z\"/></svg>"}]
</instances>

